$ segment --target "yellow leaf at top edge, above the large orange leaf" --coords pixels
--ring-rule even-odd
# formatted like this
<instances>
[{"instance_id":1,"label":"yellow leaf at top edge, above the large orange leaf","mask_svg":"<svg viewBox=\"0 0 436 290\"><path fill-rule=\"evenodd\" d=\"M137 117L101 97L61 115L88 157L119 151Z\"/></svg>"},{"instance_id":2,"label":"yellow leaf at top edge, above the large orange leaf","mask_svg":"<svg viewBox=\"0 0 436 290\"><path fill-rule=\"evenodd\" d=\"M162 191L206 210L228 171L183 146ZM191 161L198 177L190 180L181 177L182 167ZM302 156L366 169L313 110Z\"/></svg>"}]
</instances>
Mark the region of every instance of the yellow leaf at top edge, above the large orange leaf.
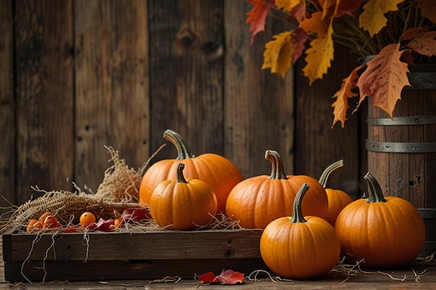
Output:
<instances>
[{"instance_id":1,"label":"yellow leaf at top edge, above the large orange leaf","mask_svg":"<svg viewBox=\"0 0 436 290\"><path fill-rule=\"evenodd\" d=\"M369 0L364 5L364 12L359 17L359 26L373 37L387 24L384 16L389 11L398 10L398 4L404 0Z\"/></svg>"}]
</instances>

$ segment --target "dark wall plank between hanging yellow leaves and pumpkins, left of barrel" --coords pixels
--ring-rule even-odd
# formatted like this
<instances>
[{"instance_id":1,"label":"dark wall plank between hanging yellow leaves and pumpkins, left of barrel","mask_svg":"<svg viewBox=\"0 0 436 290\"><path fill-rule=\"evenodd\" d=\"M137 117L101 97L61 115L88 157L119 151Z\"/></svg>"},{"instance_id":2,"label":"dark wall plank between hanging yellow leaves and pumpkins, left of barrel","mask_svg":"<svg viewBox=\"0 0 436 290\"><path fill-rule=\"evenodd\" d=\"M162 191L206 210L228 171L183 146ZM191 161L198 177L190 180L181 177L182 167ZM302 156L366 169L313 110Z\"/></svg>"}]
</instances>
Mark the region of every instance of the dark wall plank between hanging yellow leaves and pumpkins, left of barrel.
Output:
<instances>
[{"instance_id":1,"label":"dark wall plank between hanging yellow leaves and pumpkins, left of barrel","mask_svg":"<svg viewBox=\"0 0 436 290\"><path fill-rule=\"evenodd\" d=\"M360 129L360 112L350 115L355 109L354 100L350 100L351 109L345 128L341 128L340 123L332 128L331 105L334 93L341 88L342 79L357 66L357 57L343 47L335 47L334 59L327 75L311 86L302 73L296 73L295 174L319 178L325 167L343 159L345 169L332 176L329 187L344 190L356 199L366 190L365 186L362 187L366 172L359 171L359 153L364 146L361 134L365 132ZM304 66L304 59L299 59L295 70L302 72Z\"/></svg>"}]
</instances>

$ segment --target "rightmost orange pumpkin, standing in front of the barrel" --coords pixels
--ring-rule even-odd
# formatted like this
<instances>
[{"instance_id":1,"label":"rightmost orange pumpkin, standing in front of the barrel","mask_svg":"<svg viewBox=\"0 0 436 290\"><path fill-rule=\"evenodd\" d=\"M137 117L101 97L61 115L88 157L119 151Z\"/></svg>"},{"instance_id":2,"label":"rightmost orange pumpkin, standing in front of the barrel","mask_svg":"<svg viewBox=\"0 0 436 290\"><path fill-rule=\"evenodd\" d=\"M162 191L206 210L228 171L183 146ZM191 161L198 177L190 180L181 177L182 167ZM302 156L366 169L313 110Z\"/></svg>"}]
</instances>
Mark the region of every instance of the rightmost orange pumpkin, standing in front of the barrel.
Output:
<instances>
[{"instance_id":1,"label":"rightmost orange pumpkin, standing in front of the barrel","mask_svg":"<svg viewBox=\"0 0 436 290\"><path fill-rule=\"evenodd\" d=\"M384 197L375 177L364 176L368 198L357 199L339 213L335 229L341 251L351 263L365 268L392 268L410 264L426 240L419 211L400 197Z\"/></svg>"}]
</instances>

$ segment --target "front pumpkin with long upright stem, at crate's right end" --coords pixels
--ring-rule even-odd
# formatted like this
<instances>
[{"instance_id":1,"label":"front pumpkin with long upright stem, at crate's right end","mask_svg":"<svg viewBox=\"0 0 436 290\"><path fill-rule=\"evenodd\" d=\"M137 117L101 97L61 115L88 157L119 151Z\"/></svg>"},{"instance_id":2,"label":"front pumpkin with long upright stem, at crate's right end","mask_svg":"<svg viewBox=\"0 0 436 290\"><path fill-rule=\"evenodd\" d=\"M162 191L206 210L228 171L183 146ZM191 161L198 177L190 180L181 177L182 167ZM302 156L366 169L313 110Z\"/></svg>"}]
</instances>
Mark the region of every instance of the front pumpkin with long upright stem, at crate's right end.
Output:
<instances>
[{"instance_id":1,"label":"front pumpkin with long upright stem, at crate's right end","mask_svg":"<svg viewBox=\"0 0 436 290\"><path fill-rule=\"evenodd\" d=\"M322 277L336 265L341 244L331 224L303 216L304 183L293 204L292 217L279 217L260 236L260 254L274 273L289 279Z\"/></svg>"}]
</instances>

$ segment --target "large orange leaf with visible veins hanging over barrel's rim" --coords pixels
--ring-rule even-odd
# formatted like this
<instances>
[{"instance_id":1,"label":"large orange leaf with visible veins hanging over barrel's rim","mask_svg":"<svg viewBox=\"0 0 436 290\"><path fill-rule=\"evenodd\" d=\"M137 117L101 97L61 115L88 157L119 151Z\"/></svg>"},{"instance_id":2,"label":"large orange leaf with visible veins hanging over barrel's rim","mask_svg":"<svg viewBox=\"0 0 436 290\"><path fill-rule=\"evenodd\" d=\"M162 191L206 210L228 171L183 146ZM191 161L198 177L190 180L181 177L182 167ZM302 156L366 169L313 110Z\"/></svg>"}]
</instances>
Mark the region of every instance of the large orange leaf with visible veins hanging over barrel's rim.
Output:
<instances>
[{"instance_id":1,"label":"large orange leaf with visible veins hanging over barrel's rim","mask_svg":"<svg viewBox=\"0 0 436 290\"><path fill-rule=\"evenodd\" d=\"M373 106L387 112L391 118L397 100L401 99L401 91L404 86L410 86L407 73L407 63L400 61L402 52L400 44L385 46L374 59L368 61L367 68L357 81L359 86L359 105L367 97L371 96Z\"/></svg>"}]
</instances>

